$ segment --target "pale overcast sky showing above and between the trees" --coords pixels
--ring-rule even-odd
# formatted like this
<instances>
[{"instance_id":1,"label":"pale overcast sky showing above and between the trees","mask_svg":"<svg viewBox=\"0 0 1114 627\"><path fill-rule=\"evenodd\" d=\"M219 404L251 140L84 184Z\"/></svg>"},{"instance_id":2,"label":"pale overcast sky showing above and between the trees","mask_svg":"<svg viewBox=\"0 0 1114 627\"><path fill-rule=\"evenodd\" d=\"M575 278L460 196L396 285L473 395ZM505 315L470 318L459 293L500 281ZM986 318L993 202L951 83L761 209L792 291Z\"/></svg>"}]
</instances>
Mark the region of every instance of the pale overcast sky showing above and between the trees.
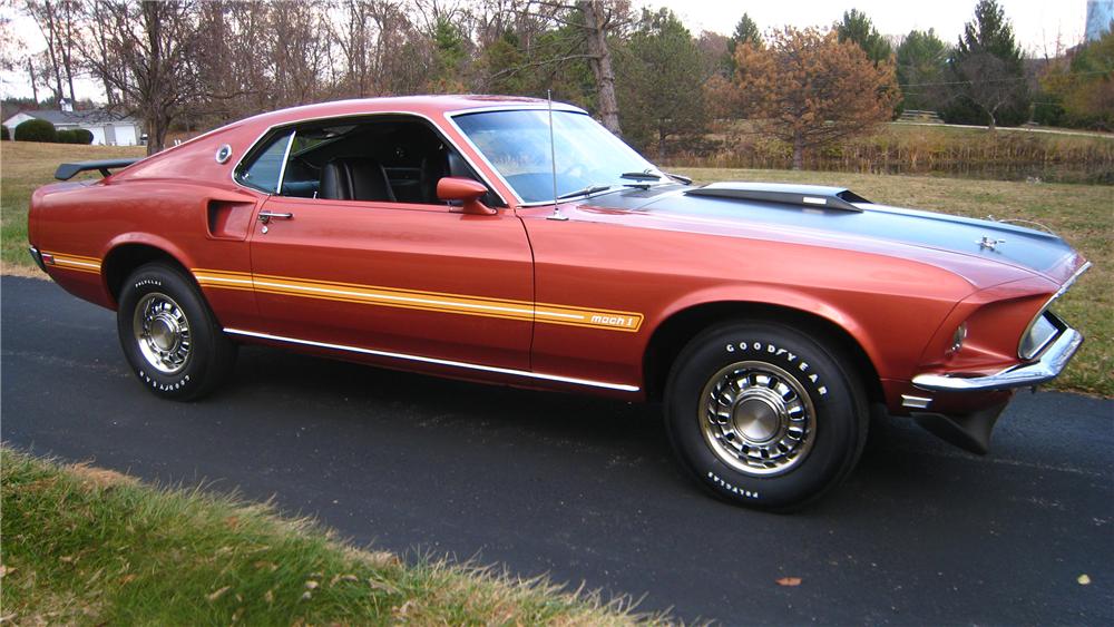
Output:
<instances>
[{"instance_id":1,"label":"pale overcast sky showing above and between the trees","mask_svg":"<svg viewBox=\"0 0 1114 627\"><path fill-rule=\"evenodd\" d=\"M936 29L941 39L955 42L964 23L971 19L976 0L634 0L641 7L668 7L692 30L731 35L735 23L749 13L763 31L771 27L828 26L843 11L857 8L873 20L882 35L905 35L912 29ZM1029 56L1054 55L1057 41L1071 47L1083 40L1086 0L999 0L1014 25L1018 43ZM12 16L9 3L0 14ZM35 22L17 17L13 25L32 51L46 43ZM0 75L6 96L29 97L26 72ZM79 98L102 100L104 94L90 80L77 82ZM41 94L40 94L41 96Z\"/></svg>"}]
</instances>

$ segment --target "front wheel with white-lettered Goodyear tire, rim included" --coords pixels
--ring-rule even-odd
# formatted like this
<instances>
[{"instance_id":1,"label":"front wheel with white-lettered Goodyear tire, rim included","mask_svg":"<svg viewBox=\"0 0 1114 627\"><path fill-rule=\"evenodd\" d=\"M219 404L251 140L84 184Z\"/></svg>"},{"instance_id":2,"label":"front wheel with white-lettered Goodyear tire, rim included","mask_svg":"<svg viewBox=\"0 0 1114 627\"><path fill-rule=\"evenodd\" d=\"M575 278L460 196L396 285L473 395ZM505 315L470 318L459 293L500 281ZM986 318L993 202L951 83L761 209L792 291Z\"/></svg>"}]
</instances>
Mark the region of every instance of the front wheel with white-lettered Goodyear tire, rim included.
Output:
<instances>
[{"instance_id":1,"label":"front wheel with white-lettered Goodyear tire, rim included","mask_svg":"<svg viewBox=\"0 0 1114 627\"><path fill-rule=\"evenodd\" d=\"M666 385L666 428L682 464L736 504L799 509L839 484L867 441L854 371L786 326L712 327L681 352Z\"/></svg>"}]
</instances>

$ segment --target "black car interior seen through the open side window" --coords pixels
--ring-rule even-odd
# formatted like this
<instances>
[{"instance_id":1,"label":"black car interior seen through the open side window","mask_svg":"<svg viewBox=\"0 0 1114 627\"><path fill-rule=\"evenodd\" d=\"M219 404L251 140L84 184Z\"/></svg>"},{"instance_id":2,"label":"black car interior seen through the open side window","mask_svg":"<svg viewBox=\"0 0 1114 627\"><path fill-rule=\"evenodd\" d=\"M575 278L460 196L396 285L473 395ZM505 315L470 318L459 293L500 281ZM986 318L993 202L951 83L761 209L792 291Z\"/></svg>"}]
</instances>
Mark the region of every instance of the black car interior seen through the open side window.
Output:
<instances>
[{"instance_id":1,"label":"black car interior seen through the open side window","mask_svg":"<svg viewBox=\"0 0 1114 627\"><path fill-rule=\"evenodd\" d=\"M480 180L424 120L374 118L297 127L282 195L338 200L444 204L437 182ZM481 200L505 206L488 192Z\"/></svg>"}]
</instances>

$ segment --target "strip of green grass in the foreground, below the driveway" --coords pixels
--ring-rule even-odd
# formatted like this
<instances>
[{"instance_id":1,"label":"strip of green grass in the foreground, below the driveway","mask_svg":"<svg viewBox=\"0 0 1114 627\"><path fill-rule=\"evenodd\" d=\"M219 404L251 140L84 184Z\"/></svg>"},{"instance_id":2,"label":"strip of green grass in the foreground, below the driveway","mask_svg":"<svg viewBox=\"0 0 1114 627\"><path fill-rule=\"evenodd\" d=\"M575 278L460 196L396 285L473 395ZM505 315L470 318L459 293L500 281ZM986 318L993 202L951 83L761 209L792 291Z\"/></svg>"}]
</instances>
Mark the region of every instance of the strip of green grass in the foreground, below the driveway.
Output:
<instances>
[{"instance_id":1,"label":"strip of green grass in the foreground, below the driveway","mask_svg":"<svg viewBox=\"0 0 1114 627\"><path fill-rule=\"evenodd\" d=\"M543 579L358 550L270 506L0 455L0 605L17 625L666 621Z\"/></svg>"}]
</instances>

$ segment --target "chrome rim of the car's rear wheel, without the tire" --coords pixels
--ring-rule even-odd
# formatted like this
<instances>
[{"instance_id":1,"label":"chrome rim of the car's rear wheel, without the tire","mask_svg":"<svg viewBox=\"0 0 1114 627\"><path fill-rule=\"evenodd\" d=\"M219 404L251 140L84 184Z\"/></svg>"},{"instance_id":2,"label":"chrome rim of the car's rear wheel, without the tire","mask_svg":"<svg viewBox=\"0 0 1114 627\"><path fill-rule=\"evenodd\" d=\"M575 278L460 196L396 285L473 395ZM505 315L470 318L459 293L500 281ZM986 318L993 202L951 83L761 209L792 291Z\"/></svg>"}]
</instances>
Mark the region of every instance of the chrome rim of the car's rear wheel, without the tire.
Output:
<instances>
[{"instance_id":1,"label":"chrome rim of the car's rear wheel, without the tire","mask_svg":"<svg viewBox=\"0 0 1114 627\"><path fill-rule=\"evenodd\" d=\"M174 298L152 292L140 298L131 330L139 353L163 374L175 374L189 360L189 321Z\"/></svg>"}]
</instances>

